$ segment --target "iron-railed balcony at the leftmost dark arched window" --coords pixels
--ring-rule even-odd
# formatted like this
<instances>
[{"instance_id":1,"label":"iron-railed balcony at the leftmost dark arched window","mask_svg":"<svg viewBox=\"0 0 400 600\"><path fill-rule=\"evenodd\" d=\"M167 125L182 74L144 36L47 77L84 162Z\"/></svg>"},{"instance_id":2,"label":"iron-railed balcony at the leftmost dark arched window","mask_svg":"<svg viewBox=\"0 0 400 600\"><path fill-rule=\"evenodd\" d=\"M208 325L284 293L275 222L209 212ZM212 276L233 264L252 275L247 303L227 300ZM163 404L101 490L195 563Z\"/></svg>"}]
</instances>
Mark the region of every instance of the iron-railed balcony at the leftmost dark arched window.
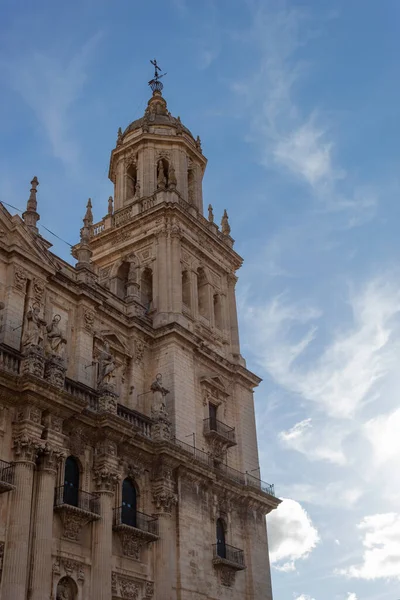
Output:
<instances>
[{"instance_id":1,"label":"iron-railed balcony at the leftmost dark arched window","mask_svg":"<svg viewBox=\"0 0 400 600\"><path fill-rule=\"evenodd\" d=\"M100 519L98 496L67 485L54 490L54 510L60 515L63 537L73 542L79 542L85 525Z\"/></svg>"}]
</instances>

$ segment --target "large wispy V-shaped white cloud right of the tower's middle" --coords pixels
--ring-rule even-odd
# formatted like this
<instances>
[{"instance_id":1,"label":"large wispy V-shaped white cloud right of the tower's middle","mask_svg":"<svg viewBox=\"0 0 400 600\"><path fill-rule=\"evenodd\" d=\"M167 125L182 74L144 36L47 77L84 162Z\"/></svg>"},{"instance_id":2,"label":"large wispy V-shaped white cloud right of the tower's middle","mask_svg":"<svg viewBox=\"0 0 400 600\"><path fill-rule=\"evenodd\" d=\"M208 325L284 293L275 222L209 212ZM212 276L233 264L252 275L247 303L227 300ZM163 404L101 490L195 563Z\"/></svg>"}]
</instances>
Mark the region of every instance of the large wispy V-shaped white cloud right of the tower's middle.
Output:
<instances>
[{"instance_id":1,"label":"large wispy V-shaped white cloud right of the tower's middle","mask_svg":"<svg viewBox=\"0 0 400 600\"><path fill-rule=\"evenodd\" d=\"M319 342L318 310L289 303L282 295L248 309L245 318L259 362L277 383L329 415L354 416L374 399L376 385L396 367L400 290L391 283L394 277L379 277L351 293L352 323L333 331L332 341L308 362L307 351ZM283 437L298 446L307 440L311 427L311 422L306 427L303 423L301 430L289 430ZM338 440L343 433L337 431Z\"/></svg>"}]
</instances>

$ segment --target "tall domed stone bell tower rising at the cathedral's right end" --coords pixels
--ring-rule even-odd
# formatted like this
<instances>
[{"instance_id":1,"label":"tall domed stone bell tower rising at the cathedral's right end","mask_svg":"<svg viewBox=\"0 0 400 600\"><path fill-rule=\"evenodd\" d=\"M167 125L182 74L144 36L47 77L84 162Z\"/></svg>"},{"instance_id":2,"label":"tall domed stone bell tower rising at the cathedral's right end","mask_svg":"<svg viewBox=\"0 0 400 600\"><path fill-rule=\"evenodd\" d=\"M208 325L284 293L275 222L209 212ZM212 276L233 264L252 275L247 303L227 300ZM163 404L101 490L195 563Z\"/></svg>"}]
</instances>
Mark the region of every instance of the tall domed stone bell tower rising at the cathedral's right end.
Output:
<instances>
[{"instance_id":1,"label":"tall domed stone bell tower rising at the cathedral's right end","mask_svg":"<svg viewBox=\"0 0 400 600\"><path fill-rule=\"evenodd\" d=\"M220 227L211 205L203 216L207 160L200 138L169 112L157 65L150 86L143 117L118 130L107 215L93 224L88 204L74 250L79 277L98 280L110 310L122 302L128 338L140 328L146 340L124 403L157 416L156 390L151 398L146 390L159 373L164 433L188 453L186 464L171 459L177 479L160 483L154 496L170 515L156 547L157 599L270 600L264 515L279 501L256 477L260 379L240 354L235 273L242 259L226 210ZM79 361L77 369L88 383ZM194 472L196 461L206 470Z\"/></svg>"}]
</instances>

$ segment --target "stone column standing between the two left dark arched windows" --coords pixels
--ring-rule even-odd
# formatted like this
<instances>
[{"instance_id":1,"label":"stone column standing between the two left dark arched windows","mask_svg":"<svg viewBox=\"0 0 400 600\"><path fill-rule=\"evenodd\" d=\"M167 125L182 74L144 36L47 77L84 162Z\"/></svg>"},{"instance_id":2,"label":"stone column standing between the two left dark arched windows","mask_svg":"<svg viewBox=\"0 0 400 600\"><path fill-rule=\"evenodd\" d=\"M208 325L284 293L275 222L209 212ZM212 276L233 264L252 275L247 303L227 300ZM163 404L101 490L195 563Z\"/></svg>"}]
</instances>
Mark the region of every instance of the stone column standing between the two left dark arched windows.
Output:
<instances>
[{"instance_id":1,"label":"stone column standing between the two left dark arched windows","mask_svg":"<svg viewBox=\"0 0 400 600\"><path fill-rule=\"evenodd\" d=\"M114 490L119 480L117 473L116 447L113 442L104 442L97 449L99 463L94 471L96 493L99 495L100 520L94 523L92 547L91 598L110 600L112 564L112 526ZM107 458L111 465L107 464Z\"/></svg>"}]
</instances>

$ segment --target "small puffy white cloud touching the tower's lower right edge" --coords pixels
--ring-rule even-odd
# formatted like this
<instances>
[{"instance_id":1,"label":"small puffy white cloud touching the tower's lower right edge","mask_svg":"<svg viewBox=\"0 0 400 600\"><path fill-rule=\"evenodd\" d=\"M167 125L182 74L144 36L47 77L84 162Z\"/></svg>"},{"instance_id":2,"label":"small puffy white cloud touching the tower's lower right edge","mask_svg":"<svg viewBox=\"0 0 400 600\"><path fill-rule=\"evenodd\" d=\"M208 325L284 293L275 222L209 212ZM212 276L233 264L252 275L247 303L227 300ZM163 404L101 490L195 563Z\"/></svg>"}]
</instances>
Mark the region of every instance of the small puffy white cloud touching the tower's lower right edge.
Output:
<instances>
[{"instance_id":1,"label":"small puffy white cloud touching the tower's lower right edge","mask_svg":"<svg viewBox=\"0 0 400 600\"><path fill-rule=\"evenodd\" d=\"M281 571L295 570L296 561L307 558L318 544L318 531L295 500L284 499L267 521L271 563Z\"/></svg>"}]
</instances>

